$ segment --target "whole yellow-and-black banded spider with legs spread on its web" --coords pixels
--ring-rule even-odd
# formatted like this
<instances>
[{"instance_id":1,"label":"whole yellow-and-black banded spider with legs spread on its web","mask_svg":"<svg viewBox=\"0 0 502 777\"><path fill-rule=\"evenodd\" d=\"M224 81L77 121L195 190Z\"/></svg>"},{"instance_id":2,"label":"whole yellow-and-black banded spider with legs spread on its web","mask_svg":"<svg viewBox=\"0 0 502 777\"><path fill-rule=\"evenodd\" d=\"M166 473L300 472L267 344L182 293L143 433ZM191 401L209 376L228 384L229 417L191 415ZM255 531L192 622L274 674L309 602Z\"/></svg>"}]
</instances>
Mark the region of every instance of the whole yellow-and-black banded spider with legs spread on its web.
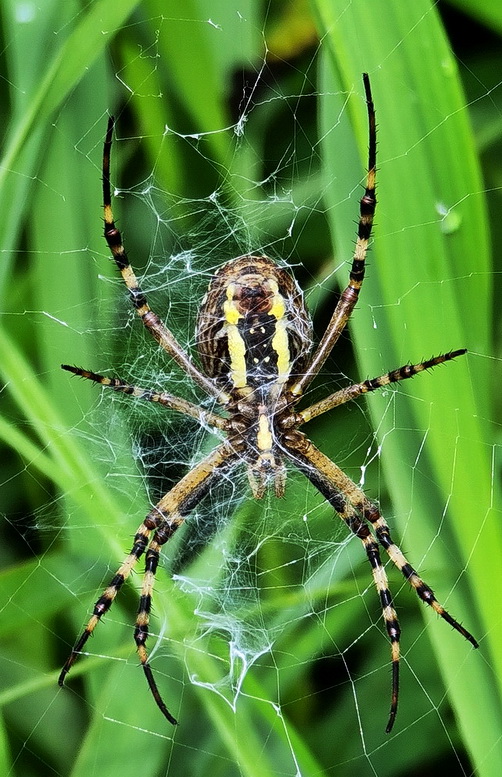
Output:
<instances>
[{"instance_id":1,"label":"whole yellow-and-black banded spider with legs spread on its web","mask_svg":"<svg viewBox=\"0 0 502 777\"><path fill-rule=\"evenodd\" d=\"M131 551L96 602L93 614L76 642L59 676L64 684L68 671L82 652L102 616L108 612L136 562L145 555L134 639L146 680L155 702L167 720L176 724L154 679L146 641L155 573L162 546L223 475L241 464L247 468L255 498L267 488L284 493L285 462L294 465L320 491L366 551L378 592L391 645L391 705L387 733L395 722L399 695L400 627L388 587L380 548L415 589L419 598L462 634L475 648L474 637L438 602L432 589L408 562L391 538L378 505L328 459L299 428L316 416L361 394L389 383L406 380L419 372L466 353L465 348L435 356L418 364L406 364L372 380L335 391L320 402L297 410L305 390L319 373L356 305L361 289L365 258L376 208L376 125L370 80L363 74L369 125L368 172L360 201L360 215L352 267L347 288L341 294L332 318L312 353L312 325L300 288L290 273L262 255L239 256L224 264L213 276L202 301L196 327L200 367L180 346L172 332L150 309L115 226L111 207L110 154L114 119L110 117L103 149L104 235L115 264L125 282L133 307L146 330L173 359L225 411L220 415L167 392L155 392L119 378L61 365L63 369L114 391L157 402L196 418L200 423L226 433L226 440L196 464L150 510L136 531ZM153 535L153 536L152 536Z\"/></svg>"}]
</instances>

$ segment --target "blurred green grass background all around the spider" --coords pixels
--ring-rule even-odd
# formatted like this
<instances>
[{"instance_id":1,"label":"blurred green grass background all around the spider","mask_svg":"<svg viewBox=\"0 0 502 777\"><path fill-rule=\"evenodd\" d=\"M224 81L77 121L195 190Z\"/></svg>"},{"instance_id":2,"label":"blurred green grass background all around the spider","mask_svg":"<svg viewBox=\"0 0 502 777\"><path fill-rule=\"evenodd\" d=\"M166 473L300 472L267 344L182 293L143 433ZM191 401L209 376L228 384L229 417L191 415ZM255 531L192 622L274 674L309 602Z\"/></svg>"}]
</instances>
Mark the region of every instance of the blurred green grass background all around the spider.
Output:
<instances>
[{"instance_id":1,"label":"blurred green grass background all around the spider","mask_svg":"<svg viewBox=\"0 0 502 777\"><path fill-rule=\"evenodd\" d=\"M500 4L4 0L0 15L2 774L500 774ZM114 212L180 340L214 268L251 250L294 266L320 333L354 244L363 71L374 243L350 339L311 398L469 354L309 434L364 476L480 649L388 567L403 670L386 737L389 648L364 552L293 475L278 503L229 485L197 516L220 532L203 544L186 527L167 549L150 648L176 730L137 669L138 576L59 690L146 487L155 498L214 443L59 369L197 395L145 343L107 258L107 114Z\"/></svg>"}]
</instances>

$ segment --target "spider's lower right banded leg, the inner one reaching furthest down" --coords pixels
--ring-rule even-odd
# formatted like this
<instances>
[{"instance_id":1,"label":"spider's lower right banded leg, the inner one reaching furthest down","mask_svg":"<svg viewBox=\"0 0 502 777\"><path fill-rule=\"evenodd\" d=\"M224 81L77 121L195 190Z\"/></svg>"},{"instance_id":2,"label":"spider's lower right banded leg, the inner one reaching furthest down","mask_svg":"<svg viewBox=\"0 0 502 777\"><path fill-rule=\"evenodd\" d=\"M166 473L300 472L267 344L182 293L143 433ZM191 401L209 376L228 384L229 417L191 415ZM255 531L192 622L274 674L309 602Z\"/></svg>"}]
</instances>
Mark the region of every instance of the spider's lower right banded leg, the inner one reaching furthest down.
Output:
<instances>
[{"instance_id":1,"label":"spider's lower right banded leg, the inner one reaching furthest down","mask_svg":"<svg viewBox=\"0 0 502 777\"><path fill-rule=\"evenodd\" d=\"M382 565L380 559L380 550L378 542L371 532L364 519L360 518L356 513L354 507L350 504L349 500L345 498L345 495L340 493L339 486L336 486L333 481L326 477L316 466L312 466L311 461L305 455L301 455L298 451L295 451L295 456L292 458L295 465L306 475L311 483L321 492L325 499L336 510L340 518L345 522L350 531L359 537L361 540L368 561L370 562L371 572L373 575L373 582L380 598L380 604L382 606L382 614L385 622L385 628L389 636L391 645L391 659L392 659L392 685L391 685L391 703L389 720L386 727L386 732L390 733L394 725L397 714L397 705L399 701L399 659L400 659L400 637L401 629L397 618L397 613L394 609L392 601L392 594L389 589L387 580L387 574L385 567Z\"/></svg>"}]
</instances>

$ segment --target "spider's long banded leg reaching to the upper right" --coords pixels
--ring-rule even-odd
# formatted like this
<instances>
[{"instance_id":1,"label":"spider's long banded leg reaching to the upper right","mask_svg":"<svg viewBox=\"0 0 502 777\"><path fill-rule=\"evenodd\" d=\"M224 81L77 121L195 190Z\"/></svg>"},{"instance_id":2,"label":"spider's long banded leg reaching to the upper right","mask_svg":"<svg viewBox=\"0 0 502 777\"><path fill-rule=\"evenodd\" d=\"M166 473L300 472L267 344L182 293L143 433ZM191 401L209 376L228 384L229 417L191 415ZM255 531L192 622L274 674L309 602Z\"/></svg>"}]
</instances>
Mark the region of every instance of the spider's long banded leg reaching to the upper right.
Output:
<instances>
[{"instance_id":1,"label":"spider's long banded leg reaching to the upper right","mask_svg":"<svg viewBox=\"0 0 502 777\"><path fill-rule=\"evenodd\" d=\"M357 303L359 292L364 280L366 252L373 227L373 218L376 208L375 178L376 178L376 122L373 97L371 95L370 80L367 73L363 73L364 91L368 111L369 148L368 148L368 172L364 195L359 206L359 225L357 230L356 247L352 258L352 267L349 274L349 283L342 293L333 312L331 321L317 349L310 359L304 374L293 384L291 393L300 396L317 375L324 362L330 355L335 343L343 332L347 321Z\"/></svg>"}]
</instances>

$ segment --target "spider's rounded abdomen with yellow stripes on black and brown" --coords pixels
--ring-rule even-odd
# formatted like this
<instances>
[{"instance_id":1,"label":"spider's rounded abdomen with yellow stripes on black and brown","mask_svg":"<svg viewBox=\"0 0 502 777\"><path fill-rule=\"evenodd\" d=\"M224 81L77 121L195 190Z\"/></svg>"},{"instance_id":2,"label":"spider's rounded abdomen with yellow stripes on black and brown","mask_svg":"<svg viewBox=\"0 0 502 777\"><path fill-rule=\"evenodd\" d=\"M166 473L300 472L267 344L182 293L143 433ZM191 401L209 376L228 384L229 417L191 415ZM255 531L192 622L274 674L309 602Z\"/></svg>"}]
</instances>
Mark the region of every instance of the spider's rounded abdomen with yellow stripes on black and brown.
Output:
<instances>
[{"instance_id":1,"label":"spider's rounded abdomen with yellow stripes on black and brown","mask_svg":"<svg viewBox=\"0 0 502 777\"><path fill-rule=\"evenodd\" d=\"M266 256L240 256L214 275L197 322L207 375L238 396L277 396L305 367L312 325L289 272Z\"/></svg>"}]
</instances>

